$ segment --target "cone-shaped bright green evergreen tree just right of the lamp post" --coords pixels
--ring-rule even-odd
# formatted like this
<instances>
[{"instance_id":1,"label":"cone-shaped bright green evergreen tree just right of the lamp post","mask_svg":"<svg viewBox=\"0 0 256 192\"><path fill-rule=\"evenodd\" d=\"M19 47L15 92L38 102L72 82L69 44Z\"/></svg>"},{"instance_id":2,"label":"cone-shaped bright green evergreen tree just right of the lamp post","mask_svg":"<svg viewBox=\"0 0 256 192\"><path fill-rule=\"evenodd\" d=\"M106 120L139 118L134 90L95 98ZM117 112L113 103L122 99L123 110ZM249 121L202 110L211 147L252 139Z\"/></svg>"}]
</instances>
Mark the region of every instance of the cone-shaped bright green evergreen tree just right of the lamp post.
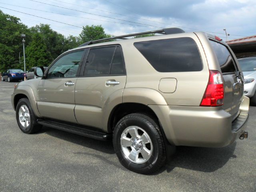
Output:
<instances>
[{"instance_id":1,"label":"cone-shaped bright green evergreen tree just right of the lamp post","mask_svg":"<svg viewBox=\"0 0 256 192\"><path fill-rule=\"evenodd\" d=\"M52 62L50 55L42 34L34 34L32 42L26 48L27 69L34 66L49 66Z\"/></svg>"}]
</instances>

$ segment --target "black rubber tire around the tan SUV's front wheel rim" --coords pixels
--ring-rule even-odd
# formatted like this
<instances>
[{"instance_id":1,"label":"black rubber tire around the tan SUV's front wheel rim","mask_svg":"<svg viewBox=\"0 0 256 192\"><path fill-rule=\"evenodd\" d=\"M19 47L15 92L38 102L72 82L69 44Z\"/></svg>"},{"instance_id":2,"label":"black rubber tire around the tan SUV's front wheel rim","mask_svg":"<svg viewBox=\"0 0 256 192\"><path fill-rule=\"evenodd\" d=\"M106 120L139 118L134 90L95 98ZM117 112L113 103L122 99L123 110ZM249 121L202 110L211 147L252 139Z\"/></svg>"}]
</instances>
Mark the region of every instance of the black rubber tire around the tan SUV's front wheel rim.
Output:
<instances>
[{"instance_id":1,"label":"black rubber tire around the tan SUV's front wheel rim","mask_svg":"<svg viewBox=\"0 0 256 192\"><path fill-rule=\"evenodd\" d=\"M30 114L30 124L27 127L22 126L22 124L20 122L20 118L19 118L19 110L22 105L27 106L29 114ZM22 132L24 132L26 134L32 134L32 133L38 132L42 128L42 125L40 125L36 122L36 116L31 108L30 102L27 98L22 98L18 101L18 104L16 106L16 120L17 120L20 130L22 130Z\"/></svg>"}]
</instances>

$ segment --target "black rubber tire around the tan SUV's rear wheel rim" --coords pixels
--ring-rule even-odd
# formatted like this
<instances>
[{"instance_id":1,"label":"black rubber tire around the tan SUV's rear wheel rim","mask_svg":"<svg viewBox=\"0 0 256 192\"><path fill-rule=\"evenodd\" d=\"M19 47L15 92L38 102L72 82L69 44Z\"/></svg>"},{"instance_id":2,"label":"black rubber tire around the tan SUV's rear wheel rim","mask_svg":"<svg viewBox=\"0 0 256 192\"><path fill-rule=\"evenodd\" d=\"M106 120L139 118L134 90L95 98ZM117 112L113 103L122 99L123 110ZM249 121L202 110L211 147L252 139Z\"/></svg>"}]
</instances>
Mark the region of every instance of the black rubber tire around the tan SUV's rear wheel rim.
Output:
<instances>
[{"instance_id":1,"label":"black rubber tire around the tan SUV's rear wheel rim","mask_svg":"<svg viewBox=\"0 0 256 192\"><path fill-rule=\"evenodd\" d=\"M138 126L146 131L152 142L153 150L150 158L143 163L129 160L121 146L121 135L129 126ZM113 145L120 163L127 169L140 173L152 174L158 171L166 161L166 149L159 125L149 116L134 113L124 116L114 128Z\"/></svg>"}]
</instances>

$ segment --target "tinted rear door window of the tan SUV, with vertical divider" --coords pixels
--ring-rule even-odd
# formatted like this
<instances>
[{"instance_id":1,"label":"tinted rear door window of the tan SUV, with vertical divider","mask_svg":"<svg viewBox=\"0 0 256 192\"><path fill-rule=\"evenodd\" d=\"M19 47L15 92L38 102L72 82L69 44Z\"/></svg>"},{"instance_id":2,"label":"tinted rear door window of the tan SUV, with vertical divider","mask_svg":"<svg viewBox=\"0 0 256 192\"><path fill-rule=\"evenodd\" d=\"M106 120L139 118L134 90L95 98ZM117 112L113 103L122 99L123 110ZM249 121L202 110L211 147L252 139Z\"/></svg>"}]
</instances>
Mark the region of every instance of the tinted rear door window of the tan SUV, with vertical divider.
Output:
<instances>
[{"instance_id":1,"label":"tinted rear door window of the tan SUV, with vertical divider","mask_svg":"<svg viewBox=\"0 0 256 192\"><path fill-rule=\"evenodd\" d=\"M119 46L92 48L89 51L84 76L125 74L122 51Z\"/></svg>"}]
</instances>

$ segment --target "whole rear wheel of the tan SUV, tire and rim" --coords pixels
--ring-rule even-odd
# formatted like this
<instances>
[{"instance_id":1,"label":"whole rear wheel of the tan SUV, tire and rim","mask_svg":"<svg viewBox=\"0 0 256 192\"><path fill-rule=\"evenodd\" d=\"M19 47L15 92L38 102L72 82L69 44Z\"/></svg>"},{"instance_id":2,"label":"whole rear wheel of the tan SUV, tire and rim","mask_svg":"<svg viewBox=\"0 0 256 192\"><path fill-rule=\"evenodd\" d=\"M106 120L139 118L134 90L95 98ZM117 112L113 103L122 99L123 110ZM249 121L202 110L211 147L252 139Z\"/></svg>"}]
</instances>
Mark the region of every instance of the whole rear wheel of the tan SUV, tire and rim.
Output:
<instances>
[{"instance_id":1,"label":"whole rear wheel of the tan SUV, tire and rim","mask_svg":"<svg viewBox=\"0 0 256 192\"><path fill-rule=\"evenodd\" d=\"M129 114L119 120L114 128L113 145L120 163L136 173L154 173L166 160L161 130L144 114Z\"/></svg>"}]
</instances>

